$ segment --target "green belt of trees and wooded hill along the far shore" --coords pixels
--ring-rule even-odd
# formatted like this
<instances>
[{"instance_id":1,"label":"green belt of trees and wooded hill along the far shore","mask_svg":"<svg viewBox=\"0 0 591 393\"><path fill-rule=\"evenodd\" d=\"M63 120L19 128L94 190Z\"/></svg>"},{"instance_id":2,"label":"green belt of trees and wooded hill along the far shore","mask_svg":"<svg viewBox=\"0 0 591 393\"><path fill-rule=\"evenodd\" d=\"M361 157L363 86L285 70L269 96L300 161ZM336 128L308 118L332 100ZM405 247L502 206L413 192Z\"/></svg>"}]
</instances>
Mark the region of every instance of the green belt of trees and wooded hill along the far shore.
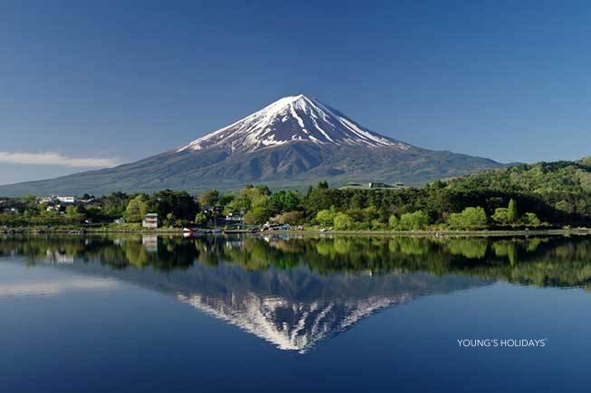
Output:
<instances>
[{"instance_id":1,"label":"green belt of trees and wooded hill along the far shore","mask_svg":"<svg viewBox=\"0 0 591 393\"><path fill-rule=\"evenodd\" d=\"M156 212L164 228L205 228L228 214L243 217L247 227L267 222L334 230L588 227L591 158L517 164L402 190L338 188L321 181L306 192L258 184L225 193L114 192L78 200L56 207L33 196L0 198L0 225L135 228L146 213Z\"/></svg>"}]
</instances>

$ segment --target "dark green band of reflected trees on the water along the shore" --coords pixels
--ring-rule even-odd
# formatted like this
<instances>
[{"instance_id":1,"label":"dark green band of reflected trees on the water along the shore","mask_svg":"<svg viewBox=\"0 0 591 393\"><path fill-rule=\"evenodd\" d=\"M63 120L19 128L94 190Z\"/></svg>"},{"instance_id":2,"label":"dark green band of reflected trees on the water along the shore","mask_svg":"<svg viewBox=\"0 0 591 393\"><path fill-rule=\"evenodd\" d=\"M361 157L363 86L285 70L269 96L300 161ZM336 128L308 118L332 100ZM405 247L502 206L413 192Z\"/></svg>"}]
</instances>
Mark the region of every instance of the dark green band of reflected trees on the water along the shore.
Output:
<instances>
[{"instance_id":1,"label":"dark green band of reflected trees on the water along the shore","mask_svg":"<svg viewBox=\"0 0 591 393\"><path fill-rule=\"evenodd\" d=\"M247 271L305 266L320 274L426 271L500 278L510 282L591 287L591 240L585 238L424 239L335 237L182 239L131 236L6 237L0 256L38 260L98 259L103 265L174 270L195 262L231 262Z\"/></svg>"}]
</instances>

